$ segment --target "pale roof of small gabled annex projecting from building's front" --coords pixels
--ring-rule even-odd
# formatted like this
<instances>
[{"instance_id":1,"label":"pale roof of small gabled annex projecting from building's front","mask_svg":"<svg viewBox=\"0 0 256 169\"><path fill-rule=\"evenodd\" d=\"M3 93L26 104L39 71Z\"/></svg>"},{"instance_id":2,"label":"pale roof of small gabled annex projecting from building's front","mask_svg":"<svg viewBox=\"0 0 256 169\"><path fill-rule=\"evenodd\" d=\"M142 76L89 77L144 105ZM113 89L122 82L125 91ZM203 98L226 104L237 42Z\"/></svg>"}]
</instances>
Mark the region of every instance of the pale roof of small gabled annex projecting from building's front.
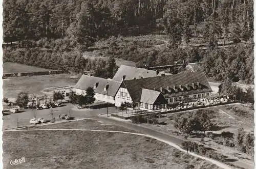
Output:
<instances>
[{"instance_id":1,"label":"pale roof of small gabled annex projecting from building's front","mask_svg":"<svg viewBox=\"0 0 256 169\"><path fill-rule=\"evenodd\" d=\"M142 89L140 102L152 105L167 103L161 92L148 89Z\"/></svg>"}]
</instances>

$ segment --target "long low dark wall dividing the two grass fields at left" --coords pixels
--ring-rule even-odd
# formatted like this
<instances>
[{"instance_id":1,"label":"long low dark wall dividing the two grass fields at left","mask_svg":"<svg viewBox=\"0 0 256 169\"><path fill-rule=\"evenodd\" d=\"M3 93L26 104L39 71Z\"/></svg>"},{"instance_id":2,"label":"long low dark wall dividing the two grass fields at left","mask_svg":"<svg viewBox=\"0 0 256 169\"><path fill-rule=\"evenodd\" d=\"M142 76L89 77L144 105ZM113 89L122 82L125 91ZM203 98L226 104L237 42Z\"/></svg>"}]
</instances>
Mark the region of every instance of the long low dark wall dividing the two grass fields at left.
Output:
<instances>
[{"instance_id":1,"label":"long low dark wall dividing the two grass fields at left","mask_svg":"<svg viewBox=\"0 0 256 169\"><path fill-rule=\"evenodd\" d=\"M61 74L69 73L66 70L51 70L51 71L40 71L40 72L24 72L24 73L4 73L3 77L21 77L21 76L36 76L36 75L50 75L50 74Z\"/></svg>"}]
</instances>

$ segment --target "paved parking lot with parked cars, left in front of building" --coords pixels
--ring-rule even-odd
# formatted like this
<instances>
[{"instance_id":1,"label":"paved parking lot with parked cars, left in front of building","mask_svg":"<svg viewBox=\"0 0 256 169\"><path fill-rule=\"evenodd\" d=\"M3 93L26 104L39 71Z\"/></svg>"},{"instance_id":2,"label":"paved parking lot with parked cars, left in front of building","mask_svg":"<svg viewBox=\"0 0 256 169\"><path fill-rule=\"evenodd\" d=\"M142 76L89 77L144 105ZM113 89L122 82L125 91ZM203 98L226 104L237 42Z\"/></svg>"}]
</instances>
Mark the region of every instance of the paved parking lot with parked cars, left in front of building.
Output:
<instances>
[{"instance_id":1,"label":"paved parking lot with parked cars, left in front of building","mask_svg":"<svg viewBox=\"0 0 256 169\"><path fill-rule=\"evenodd\" d=\"M87 118L88 115L90 116L97 116L99 114L106 113L106 108L100 108L100 109L81 109L77 110L74 109L74 105L72 104L66 104L62 107L56 107L53 108L53 117L55 117L55 121L59 121L59 115L60 114L69 114L70 116L74 118ZM115 107L109 107L109 112L115 112ZM3 116L3 130L6 129L12 129L23 126L31 125L29 123L30 119L33 119L33 117L37 118L44 118L47 120L51 120L51 110L50 109L42 109L42 110L35 110L35 109L28 109L24 112L19 112L11 115Z\"/></svg>"}]
</instances>

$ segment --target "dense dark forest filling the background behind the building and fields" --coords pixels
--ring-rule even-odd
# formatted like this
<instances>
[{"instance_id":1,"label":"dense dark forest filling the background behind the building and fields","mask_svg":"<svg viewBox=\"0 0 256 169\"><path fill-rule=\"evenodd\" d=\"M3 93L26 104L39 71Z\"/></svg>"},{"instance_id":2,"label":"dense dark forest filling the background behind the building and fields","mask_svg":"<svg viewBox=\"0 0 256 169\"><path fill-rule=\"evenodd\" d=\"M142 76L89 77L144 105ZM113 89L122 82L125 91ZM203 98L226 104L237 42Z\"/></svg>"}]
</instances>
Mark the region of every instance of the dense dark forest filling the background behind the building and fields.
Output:
<instances>
[{"instance_id":1,"label":"dense dark forest filling the background behind the building and fields","mask_svg":"<svg viewBox=\"0 0 256 169\"><path fill-rule=\"evenodd\" d=\"M252 0L5 0L3 7L4 42L19 42L4 47L7 61L99 73L97 66L88 66L99 61L81 57L95 42L165 33L166 49L110 48L109 55L140 67L202 61L206 75L216 80L253 79ZM193 43L191 38L203 39L207 48L181 48L182 42Z\"/></svg>"}]
</instances>

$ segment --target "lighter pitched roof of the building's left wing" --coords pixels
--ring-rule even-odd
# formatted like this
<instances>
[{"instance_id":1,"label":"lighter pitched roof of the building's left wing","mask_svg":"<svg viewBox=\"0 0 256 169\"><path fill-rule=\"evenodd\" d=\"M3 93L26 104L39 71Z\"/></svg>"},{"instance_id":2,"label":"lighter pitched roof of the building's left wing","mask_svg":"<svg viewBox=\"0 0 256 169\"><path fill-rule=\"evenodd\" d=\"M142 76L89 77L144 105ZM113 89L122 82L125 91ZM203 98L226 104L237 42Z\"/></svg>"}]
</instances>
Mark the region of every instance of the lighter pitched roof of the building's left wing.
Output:
<instances>
[{"instance_id":1,"label":"lighter pitched roof of the building's left wing","mask_svg":"<svg viewBox=\"0 0 256 169\"><path fill-rule=\"evenodd\" d=\"M97 83L97 85L96 85ZM95 93L100 93L103 95L115 96L121 82L104 79L100 77L82 75L74 88L86 90L88 87L94 87L96 85L96 89L94 89ZM108 90L104 91L104 88L109 85Z\"/></svg>"}]
</instances>

